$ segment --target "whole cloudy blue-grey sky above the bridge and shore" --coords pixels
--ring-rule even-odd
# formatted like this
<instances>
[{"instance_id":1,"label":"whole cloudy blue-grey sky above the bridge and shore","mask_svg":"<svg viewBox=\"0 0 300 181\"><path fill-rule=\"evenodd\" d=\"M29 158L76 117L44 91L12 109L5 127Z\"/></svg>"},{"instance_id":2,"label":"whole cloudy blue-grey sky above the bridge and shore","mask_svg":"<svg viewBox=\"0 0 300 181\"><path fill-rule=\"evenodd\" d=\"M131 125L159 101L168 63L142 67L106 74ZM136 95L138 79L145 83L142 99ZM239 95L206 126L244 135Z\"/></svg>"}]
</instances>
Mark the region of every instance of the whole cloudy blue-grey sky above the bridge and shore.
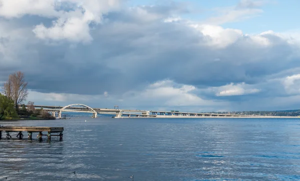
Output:
<instances>
[{"instance_id":1,"label":"whole cloudy blue-grey sky above the bridge and shore","mask_svg":"<svg viewBox=\"0 0 300 181\"><path fill-rule=\"evenodd\" d=\"M0 0L0 86L20 70L26 102L35 104L298 109L299 6L298 0Z\"/></svg>"}]
</instances>

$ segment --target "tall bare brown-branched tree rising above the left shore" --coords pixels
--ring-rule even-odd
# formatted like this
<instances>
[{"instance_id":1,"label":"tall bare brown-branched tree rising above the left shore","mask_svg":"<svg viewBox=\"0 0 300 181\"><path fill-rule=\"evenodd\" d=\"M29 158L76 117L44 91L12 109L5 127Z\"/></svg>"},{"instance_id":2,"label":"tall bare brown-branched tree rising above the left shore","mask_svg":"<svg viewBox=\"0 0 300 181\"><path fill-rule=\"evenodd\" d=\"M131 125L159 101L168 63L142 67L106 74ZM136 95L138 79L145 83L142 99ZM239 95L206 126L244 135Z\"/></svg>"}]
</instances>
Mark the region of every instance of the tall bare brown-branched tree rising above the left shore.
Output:
<instances>
[{"instance_id":1,"label":"tall bare brown-branched tree rising above the left shore","mask_svg":"<svg viewBox=\"0 0 300 181\"><path fill-rule=\"evenodd\" d=\"M18 109L18 104L26 100L28 95L24 73L17 71L10 74L2 89L4 95L11 98L14 102L14 107Z\"/></svg>"}]
</instances>

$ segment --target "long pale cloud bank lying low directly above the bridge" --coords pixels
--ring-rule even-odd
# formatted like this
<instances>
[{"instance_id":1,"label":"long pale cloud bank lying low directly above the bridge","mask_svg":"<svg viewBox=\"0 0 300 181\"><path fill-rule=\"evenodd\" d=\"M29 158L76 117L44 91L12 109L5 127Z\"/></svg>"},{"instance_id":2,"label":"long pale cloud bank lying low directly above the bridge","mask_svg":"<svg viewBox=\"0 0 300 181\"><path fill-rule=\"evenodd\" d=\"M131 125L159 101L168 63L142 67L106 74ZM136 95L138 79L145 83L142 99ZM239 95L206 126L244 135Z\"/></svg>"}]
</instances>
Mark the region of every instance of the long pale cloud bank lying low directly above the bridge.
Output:
<instances>
[{"instance_id":1,"label":"long pale cloud bank lying low directly above the bridge","mask_svg":"<svg viewBox=\"0 0 300 181\"><path fill-rule=\"evenodd\" d=\"M103 94L74 94L74 93L42 93L29 90L27 100L35 104L67 105L70 103L83 103L92 107L107 107L107 105L119 105L123 109L155 109L159 110L180 108L193 111L214 110L222 107L226 101L206 100L193 91L192 85L178 84L172 80L161 80L148 84L141 90L130 90L120 96ZM158 110L158 109L157 109Z\"/></svg>"}]
</instances>

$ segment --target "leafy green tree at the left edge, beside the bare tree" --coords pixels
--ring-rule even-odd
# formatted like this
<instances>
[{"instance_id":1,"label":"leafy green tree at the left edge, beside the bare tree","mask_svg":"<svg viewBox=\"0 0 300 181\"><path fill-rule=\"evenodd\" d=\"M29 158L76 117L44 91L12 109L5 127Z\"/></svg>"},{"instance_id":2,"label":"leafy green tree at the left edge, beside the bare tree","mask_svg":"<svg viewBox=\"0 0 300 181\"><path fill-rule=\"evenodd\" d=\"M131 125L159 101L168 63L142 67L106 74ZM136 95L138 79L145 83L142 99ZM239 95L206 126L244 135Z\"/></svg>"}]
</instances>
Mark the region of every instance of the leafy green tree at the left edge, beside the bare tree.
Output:
<instances>
[{"instance_id":1,"label":"leafy green tree at the left edge, beside the bare tree","mask_svg":"<svg viewBox=\"0 0 300 181\"><path fill-rule=\"evenodd\" d=\"M2 116L16 116L17 113L13 107L13 101L0 93L0 120Z\"/></svg>"}]
</instances>

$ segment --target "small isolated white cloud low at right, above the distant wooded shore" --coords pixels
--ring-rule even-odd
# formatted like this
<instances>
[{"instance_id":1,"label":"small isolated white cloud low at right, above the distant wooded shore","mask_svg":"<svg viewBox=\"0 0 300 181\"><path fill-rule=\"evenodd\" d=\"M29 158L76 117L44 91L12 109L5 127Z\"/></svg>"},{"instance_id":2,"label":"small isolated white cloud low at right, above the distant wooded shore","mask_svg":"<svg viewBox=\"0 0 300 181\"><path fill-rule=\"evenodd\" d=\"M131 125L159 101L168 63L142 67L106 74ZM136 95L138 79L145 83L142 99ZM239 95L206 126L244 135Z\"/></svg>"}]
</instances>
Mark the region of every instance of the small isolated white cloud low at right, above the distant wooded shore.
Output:
<instances>
[{"instance_id":1,"label":"small isolated white cloud low at right, above the distant wooded shore","mask_svg":"<svg viewBox=\"0 0 300 181\"><path fill-rule=\"evenodd\" d=\"M216 96L231 96L231 95L245 95L251 93L257 93L260 89L257 88L247 88L249 85L242 83L230 83L227 85L212 87L212 90L216 91Z\"/></svg>"}]
</instances>

